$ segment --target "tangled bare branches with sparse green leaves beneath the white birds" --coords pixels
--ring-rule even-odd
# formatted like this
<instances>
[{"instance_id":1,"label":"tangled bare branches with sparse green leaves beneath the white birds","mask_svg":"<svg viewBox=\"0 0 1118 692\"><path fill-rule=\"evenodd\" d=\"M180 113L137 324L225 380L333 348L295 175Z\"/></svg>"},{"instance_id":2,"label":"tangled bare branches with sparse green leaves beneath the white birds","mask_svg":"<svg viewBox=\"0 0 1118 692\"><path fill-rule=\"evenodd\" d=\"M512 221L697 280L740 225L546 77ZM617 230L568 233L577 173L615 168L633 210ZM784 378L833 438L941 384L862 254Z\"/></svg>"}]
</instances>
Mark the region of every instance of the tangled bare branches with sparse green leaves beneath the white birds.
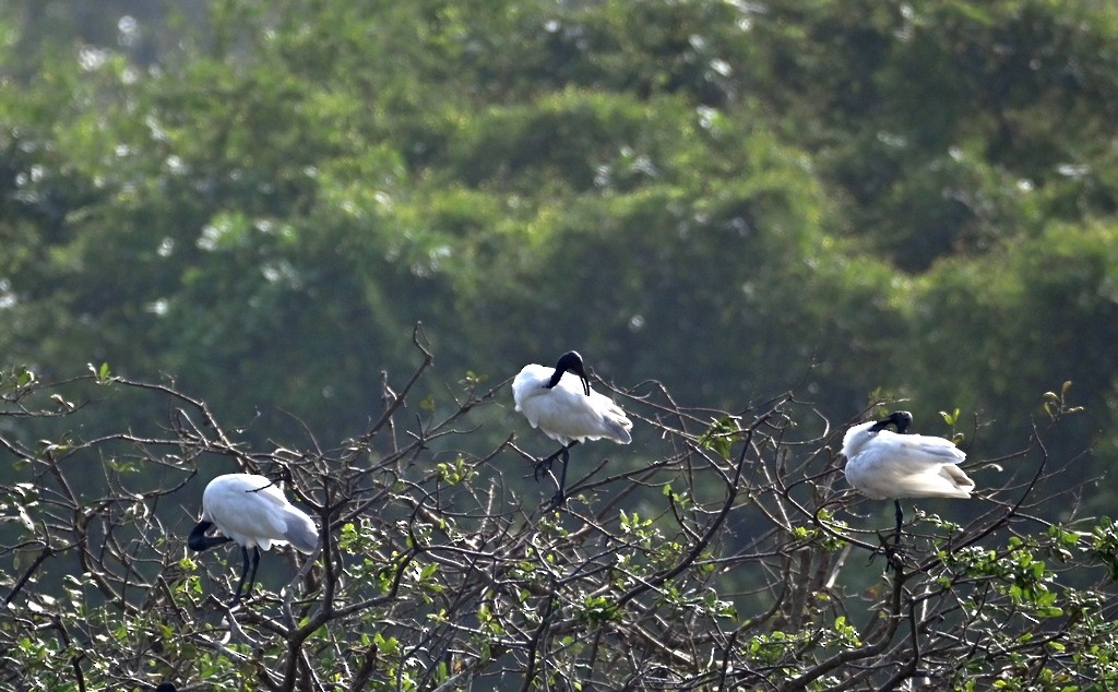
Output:
<instances>
[{"instance_id":1,"label":"tangled bare branches with sparse green leaves beneath the white birds","mask_svg":"<svg viewBox=\"0 0 1118 692\"><path fill-rule=\"evenodd\" d=\"M417 336L418 336L417 332ZM501 389L414 416L432 354L360 437L253 451L201 400L98 368L67 383L3 379L3 420L68 420L66 397L119 390L169 411L162 433L0 436L26 478L6 484L0 684L55 690L1107 689L1118 641L1111 520L1039 510L1072 496L1049 425L986 490L974 519L918 513L906 544L874 503L836 485L836 432L779 397L741 415L616 391L662 438L648 466L588 446L561 511L521 492L511 438L471 430ZM101 406L91 404L88 406ZM423 408L423 407L420 407ZM444 451L439 452L438 449ZM78 485L100 458L95 484ZM292 481L322 528L300 569L267 554L264 585L224 605L237 558L187 553L199 491L220 463ZM646 490L642 490L646 489ZM926 501L927 502L927 501ZM930 502L927 502L930 504ZM925 503L921 503L925 504ZM184 511L186 510L186 511ZM884 553L874 565L874 557ZM281 558L288 567L280 568ZM880 572L884 563L892 571ZM286 582L286 585L284 585Z\"/></svg>"}]
</instances>

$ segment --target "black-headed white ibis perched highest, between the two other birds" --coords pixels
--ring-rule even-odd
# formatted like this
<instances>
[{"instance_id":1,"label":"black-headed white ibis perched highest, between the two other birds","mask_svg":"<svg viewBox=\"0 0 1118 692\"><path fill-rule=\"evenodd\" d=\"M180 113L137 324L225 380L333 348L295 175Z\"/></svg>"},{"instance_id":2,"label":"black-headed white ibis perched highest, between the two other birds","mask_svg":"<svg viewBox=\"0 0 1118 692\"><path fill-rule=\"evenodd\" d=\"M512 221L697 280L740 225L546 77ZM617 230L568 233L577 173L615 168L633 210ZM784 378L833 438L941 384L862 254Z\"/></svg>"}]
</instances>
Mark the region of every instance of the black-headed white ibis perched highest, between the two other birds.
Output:
<instances>
[{"instance_id":1,"label":"black-headed white ibis perched highest, between the two other birds","mask_svg":"<svg viewBox=\"0 0 1118 692\"><path fill-rule=\"evenodd\" d=\"M512 380L512 398L517 410L524 414L533 428L540 428L562 445L536 464L539 472L550 468L557 457L562 458L559 490L551 501L556 506L563 503L571 447L587 439L606 438L622 445L633 442L629 435L633 423L613 400L590 389L582 357L577 351L563 353L555 368L524 366Z\"/></svg>"}]
</instances>

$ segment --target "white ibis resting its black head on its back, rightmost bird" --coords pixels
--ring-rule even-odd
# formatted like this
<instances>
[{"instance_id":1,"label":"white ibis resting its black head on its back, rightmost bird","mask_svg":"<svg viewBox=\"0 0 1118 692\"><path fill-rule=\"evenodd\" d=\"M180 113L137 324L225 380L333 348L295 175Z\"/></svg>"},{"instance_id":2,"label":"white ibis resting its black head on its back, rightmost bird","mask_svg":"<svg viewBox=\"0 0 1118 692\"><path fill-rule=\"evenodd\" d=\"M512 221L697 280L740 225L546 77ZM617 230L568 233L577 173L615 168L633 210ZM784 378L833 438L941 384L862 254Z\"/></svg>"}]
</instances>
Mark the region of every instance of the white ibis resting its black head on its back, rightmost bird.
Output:
<instances>
[{"instance_id":1,"label":"white ibis resting its black head on its back, rightmost bird","mask_svg":"<svg viewBox=\"0 0 1118 692\"><path fill-rule=\"evenodd\" d=\"M894 411L881 420L846 430L842 453L846 456L846 481L868 497L892 500L897 505L900 542L900 497L969 497L975 483L956 464L967 458L949 439L904 435L912 414ZM894 426L897 433L885 427Z\"/></svg>"}]
</instances>

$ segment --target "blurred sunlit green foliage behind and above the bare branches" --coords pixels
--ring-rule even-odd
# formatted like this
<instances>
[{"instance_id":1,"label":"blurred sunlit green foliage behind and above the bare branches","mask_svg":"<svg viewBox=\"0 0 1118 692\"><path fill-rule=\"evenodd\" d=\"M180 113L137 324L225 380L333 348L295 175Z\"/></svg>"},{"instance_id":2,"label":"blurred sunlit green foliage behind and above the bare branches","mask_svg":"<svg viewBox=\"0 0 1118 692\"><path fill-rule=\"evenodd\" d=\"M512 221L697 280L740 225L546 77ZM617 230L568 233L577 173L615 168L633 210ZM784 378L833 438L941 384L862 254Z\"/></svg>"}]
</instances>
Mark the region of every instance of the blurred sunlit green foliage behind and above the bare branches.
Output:
<instances>
[{"instance_id":1,"label":"blurred sunlit green foliage behind and above the bare branches","mask_svg":"<svg viewBox=\"0 0 1118 692\"><path fill-rule=\"evenodd\" d=\"M421 321L432 396L578 349L683 406L958 409L993 458L1071 380L1049 453L1118 457L1110 1L0 10L0 360L40 379L339 444Z\"/></svg>"}]
</instances>

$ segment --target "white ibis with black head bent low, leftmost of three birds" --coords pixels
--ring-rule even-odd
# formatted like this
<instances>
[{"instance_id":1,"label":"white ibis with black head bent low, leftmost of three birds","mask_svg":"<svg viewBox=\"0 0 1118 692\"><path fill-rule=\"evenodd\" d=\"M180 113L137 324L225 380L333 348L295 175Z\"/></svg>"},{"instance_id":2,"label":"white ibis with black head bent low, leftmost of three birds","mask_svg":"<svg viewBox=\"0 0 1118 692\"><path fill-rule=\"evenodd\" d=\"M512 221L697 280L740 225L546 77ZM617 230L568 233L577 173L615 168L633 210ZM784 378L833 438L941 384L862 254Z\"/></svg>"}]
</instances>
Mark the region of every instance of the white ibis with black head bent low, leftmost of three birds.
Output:
<instances>
[{"instance_id":1,"label":"white ibis with black head bent low, leftmost of three birds","mask_svg":"<svg viewBox=\"0 0 1118 692\"><path fill-rule=\"evenodd\" d=\"M210 527L222 535L206 535ZM301 552L313 552L319 546L319 530L305 512L287 502L283 491L265 476L230 473L209 482L202 493L202 516L190 532L187 544L192 550L207 550L233 541L240 546L245 567L237 582L233 605L241 598L241 587L248 576L248 549L253 549L253 575L245 594L253 590L260 548L291 543Z\"/></svg>"}]
</instances>

